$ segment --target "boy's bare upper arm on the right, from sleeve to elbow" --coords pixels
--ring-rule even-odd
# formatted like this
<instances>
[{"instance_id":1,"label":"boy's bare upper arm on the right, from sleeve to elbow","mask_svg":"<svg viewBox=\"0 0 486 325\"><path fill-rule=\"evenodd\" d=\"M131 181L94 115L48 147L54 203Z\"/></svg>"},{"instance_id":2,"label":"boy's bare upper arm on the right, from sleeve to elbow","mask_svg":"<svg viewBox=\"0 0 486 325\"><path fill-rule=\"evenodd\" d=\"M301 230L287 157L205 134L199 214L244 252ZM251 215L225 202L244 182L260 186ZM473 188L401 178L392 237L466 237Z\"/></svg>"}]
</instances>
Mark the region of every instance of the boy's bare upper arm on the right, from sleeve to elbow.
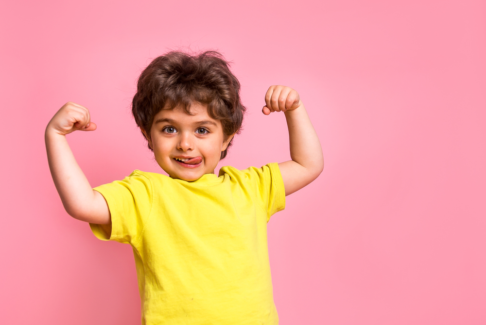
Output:
<instances>
[{"instance_id":1,"label":"boy's bare upper arm on the right, from sleeve to elbow","mask_svg":"<svg viewBox=\"0 0 486 325\"><path fill-rule=\"evenodd\" d=\"M293 160L280 162L278 168L282 174L285 195L290 195L310 184L322 172L322 165L309 168Z\"/></svg>"}]
</instances>

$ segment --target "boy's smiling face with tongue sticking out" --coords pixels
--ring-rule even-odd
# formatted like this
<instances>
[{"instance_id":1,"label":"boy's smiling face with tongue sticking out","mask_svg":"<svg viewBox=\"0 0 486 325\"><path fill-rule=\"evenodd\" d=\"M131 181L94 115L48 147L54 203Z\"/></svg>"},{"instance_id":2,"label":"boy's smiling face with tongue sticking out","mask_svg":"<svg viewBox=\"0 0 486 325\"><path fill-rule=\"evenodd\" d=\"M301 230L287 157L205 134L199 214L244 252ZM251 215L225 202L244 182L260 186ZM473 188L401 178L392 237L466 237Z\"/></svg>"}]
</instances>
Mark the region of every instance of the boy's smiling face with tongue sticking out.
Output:
<instances>
[{"instance_id":1,"label":"boy's smiling face with tongue sticking out","mask_svg":"<svg viewBox=\"0 0 486 325\"><path fill-rule=\"evenodd\" d=\"M157 163L173 179L192 181L214 173L232 138L225 139L221 122L208 115L206 106L193 103L191 114L177 107L160 111L147 137Z\"/></svg>"}]
</instances>

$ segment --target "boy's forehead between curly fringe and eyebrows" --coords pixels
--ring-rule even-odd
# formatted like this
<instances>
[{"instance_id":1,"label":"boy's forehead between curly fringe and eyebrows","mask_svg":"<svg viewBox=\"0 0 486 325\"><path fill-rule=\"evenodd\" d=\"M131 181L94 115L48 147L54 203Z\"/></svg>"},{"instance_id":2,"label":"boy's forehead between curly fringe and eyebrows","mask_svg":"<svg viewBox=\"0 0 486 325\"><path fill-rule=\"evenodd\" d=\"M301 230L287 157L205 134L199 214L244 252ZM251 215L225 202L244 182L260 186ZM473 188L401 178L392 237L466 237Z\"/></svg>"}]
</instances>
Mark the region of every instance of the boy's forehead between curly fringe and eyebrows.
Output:
<instances>
[{"instance_id":1,"label":"boy's forehead between curly fringe and eyebrows","mask_svg":"<svg viewBox=\"0 0 486 325\"><path fill-rule=\"evenodd\" d=\"M189 109L191 114L188 114L180 106L174 109L162 109L154 116L153 125L159 123L177 123L177 124L206 124L221 128L221 121L209 116L206 105L200 103L193 103Z\"/></svg>"}]
</instances>

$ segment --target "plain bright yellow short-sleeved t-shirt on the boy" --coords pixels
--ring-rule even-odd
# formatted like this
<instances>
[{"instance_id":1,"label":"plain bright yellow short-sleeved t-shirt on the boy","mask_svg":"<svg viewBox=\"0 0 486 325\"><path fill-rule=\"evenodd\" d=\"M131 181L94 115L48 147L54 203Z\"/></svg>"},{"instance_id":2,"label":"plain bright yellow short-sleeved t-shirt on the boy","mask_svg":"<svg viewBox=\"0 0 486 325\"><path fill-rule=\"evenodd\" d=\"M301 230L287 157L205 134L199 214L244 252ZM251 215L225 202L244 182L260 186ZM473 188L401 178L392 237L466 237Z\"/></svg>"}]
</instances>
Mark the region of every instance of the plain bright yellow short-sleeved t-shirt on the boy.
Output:
<instances>
[{"instance_id":1,"label":"plain bright yellow short-sleeved t-shirt on the boy","mask_svg":"<svg viewBox=\"0 0 486 325\"><path fill-rule=\"evenodd\" d=\"M266 227L285 207L277 163L192 182L136 170L95 190L112 228L91 229L132 245L143 325L278 324Z\"/></svg>"}]
</instances>

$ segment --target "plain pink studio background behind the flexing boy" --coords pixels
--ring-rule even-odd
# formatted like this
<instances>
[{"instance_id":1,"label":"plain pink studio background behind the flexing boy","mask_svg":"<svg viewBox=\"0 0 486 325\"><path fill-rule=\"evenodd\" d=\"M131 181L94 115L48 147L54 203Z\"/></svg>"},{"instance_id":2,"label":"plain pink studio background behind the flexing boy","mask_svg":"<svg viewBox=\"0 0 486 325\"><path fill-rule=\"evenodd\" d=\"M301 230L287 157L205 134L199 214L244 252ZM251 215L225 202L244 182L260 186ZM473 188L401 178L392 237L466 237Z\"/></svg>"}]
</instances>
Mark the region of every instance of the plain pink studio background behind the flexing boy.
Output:
<instances>
[{"instance_id":1,"label":"plain pink studio background behind the flexing boy","mask_svg":"<svg viewBox=\"0 0 486 325\"><path fill-rule=\"evenodd\" d=\"M91 185L159 171L129 110L167 49L219 49L249 108L223 162L289 158L271 84L299 91L325 168L269 223L280 324L486 324L486 2L5 1L1 324L139 324L130 246L63 210L43 132L67 101ZM69 3L69 4L68 4Z\"/></svg>"}]
</instances>

